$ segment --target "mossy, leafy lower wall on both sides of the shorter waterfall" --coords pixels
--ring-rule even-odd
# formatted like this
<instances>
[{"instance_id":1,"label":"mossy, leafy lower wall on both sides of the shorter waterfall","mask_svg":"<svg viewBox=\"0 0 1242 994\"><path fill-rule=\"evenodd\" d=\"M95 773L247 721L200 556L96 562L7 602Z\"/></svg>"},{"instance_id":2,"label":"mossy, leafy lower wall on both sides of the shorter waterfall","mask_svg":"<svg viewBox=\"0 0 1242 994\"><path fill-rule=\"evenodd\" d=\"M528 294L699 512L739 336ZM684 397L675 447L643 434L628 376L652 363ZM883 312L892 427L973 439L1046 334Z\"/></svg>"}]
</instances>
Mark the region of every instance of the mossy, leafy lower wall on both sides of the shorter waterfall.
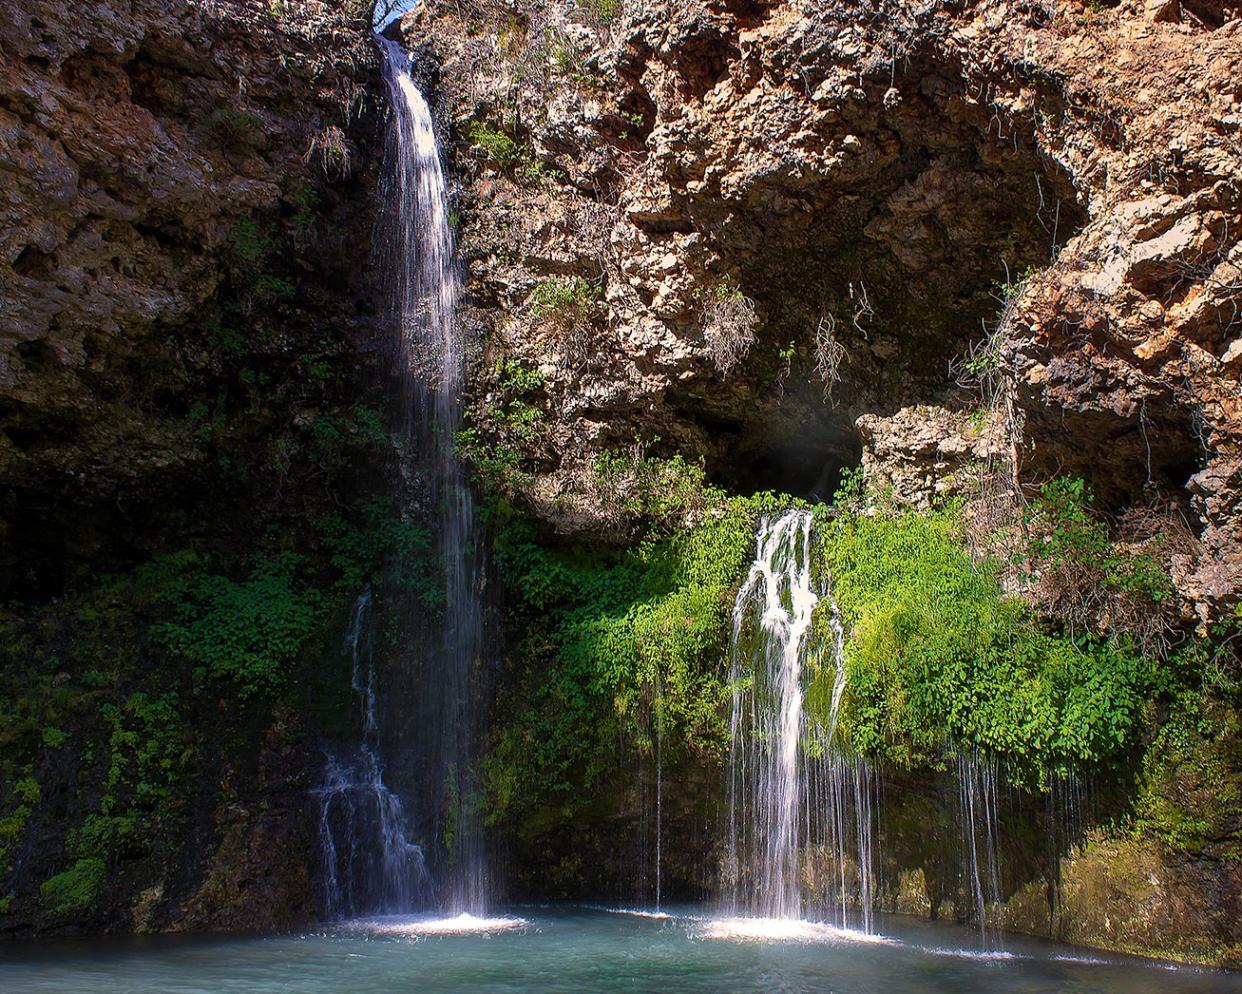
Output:
<instances>
[{"instance_id":1,"label":"mossy, leafy lower wall on both sides of the shorter waterfall","mask_svg":"<svg viewBox=\"0 0 1242 994\"><path fill-rule=\"evenodd\" d=\"M487 811L517 893L651 897L658 747L663 893L720 896L729 614L759 517L789 498L688 492L689 523L657 526L631 552L565 545L503 503L494 512L509 644ZM1236 625L1155 654L1125 629L1129 615L1074 630L1006 593L1013 577L1105 557L1109 596L1160 609L1159 550L1114 543L1074 481L1036 496L1011 562L971 557L960 502L913 512L851 482L816 513L817 568L833 595L817 625L835 606L848 636L838 747L872 763L879 783L877 905L977 917L965 755L1000 784L991 926L1232 962ZM832 676L809 675L807 707L822 721ZM806 859L814 895L818 857Z\"/></svg>"}]
</instances>

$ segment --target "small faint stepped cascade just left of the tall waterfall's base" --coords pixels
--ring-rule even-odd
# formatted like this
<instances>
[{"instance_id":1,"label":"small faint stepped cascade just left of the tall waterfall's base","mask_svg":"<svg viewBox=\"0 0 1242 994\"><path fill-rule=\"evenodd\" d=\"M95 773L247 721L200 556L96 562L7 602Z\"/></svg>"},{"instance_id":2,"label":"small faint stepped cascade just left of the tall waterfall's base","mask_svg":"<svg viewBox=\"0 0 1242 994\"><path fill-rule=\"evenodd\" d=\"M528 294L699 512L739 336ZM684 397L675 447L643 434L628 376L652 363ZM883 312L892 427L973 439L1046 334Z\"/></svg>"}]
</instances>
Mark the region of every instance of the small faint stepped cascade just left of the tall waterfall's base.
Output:
<instances>
[{"instance_id":1,"label":"small faint stepped cascade just left of the tall waterfall's base","mask_svg":"<svg viewBox=\"0 0 1242 994\"><path fill-rule=\"evenodd\" d=\"M371 591L354 603L344 652L363 711L363 741L348 755L329 753L314 795L319 815L323 905L328 918L411 911L426 902L422 847L410 841L400 798L384 783L375 686Z\"/></svg>"}]
</instances>

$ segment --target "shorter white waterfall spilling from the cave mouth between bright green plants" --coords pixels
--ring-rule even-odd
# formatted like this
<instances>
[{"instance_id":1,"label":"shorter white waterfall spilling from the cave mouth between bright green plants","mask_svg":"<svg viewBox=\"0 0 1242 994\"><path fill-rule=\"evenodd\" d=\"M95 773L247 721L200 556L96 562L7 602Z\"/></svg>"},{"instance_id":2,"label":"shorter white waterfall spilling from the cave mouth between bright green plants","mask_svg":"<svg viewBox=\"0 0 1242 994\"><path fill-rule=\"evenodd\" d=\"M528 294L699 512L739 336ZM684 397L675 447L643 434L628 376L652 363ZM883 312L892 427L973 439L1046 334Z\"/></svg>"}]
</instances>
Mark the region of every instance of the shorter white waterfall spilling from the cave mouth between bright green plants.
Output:
<instances>
[{"instance_id":1,"label":"shorter white waterfall spilling from the cave mouth between bright green plants","mask_svg":"<svg viewBox=\"0 0 1242 994\"><path fill-rule=\"evenodd\" d=\"M814 910L846 926L857 907L869 929L874 779L836 748L843 632L815 579L812 544L810 511L765 518L734 603L727 876L737 913L800 918ZM828 688L818 721L806 711L812 681Z\"/></svg>"}]
</instances>

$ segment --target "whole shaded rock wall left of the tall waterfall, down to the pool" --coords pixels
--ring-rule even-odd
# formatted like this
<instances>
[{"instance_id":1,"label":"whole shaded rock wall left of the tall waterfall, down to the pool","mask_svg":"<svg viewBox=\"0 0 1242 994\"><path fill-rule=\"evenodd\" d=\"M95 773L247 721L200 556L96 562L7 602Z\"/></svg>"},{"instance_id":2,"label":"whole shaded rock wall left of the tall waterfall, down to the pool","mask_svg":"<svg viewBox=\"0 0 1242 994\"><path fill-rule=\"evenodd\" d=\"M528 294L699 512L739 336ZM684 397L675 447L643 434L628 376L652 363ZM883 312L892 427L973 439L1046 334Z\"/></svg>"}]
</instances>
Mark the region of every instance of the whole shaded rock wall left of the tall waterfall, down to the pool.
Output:
<instances>
[{"instance_id":1,"label":"whole shaded rock wall left of the tall waterfall, down to the pool","mask_svg":"<svg viewBox=\"0 0 1242 994\"><path fill-rule=\"evenodd\" d=\"M384 435L365 15L0 2L4 931L318 913L332 692L273 711L204 683L152 635L180 595L124 575L306 549ZM323 625L308 668L338 657Z\"/></svg>"}]
</instances>

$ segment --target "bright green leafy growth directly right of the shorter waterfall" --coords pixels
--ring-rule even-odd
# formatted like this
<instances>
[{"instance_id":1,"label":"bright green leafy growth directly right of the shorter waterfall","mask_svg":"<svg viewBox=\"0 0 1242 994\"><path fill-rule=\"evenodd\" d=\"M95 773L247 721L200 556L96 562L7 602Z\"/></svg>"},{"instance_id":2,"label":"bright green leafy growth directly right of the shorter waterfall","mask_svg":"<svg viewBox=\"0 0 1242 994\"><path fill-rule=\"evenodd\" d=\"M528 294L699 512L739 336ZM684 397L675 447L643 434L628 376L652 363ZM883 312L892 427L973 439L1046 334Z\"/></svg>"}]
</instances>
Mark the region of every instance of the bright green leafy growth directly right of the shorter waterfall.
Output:
<instances>
[{"instance_id":1,"label":"bright green leafy growth directly right of the shorter waterfall","mask_svg":"<svg viewBox=\"0 0 1242 994\"><path fill-rule=\"evenodd\" d=\"M900 764L979 746L1030 783L1122 757L1141 726L1150 662L1042 631L1002 594L995 565L971 562L959 529L954 508L822 522L822 567L851 632L845 739ZM814 688L812 702L822 708L826 693Z\"/></svg>"}]
</instances>

